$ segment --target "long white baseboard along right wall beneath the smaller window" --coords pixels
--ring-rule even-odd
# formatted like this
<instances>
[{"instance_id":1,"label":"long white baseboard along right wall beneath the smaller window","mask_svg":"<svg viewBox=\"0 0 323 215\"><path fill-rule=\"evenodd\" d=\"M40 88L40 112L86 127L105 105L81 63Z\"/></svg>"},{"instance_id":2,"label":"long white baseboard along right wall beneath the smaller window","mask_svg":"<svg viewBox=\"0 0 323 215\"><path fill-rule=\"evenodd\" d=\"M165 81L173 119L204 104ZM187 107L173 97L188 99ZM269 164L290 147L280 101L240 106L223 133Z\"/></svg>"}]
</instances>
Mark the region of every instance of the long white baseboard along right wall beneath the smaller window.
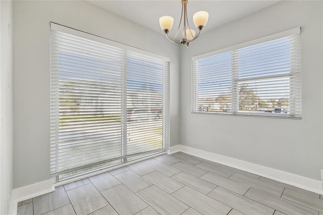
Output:
<instances>
[{"instance_id":1,"label":"long white baseboard along right wall beneath the smaller window","mask_svg":"<svg viewBox=\"0 0 323 215\"><path fill-rule=\"evenodd\" d=\"M245 162L243 160L192 148L185 145L175 145L170 147L170 154L178 151L182 151L184 153L201 157L201 158L210 160L212 162L217 162L219 164L227 165L229 167L237 168L239 170L243 170L259 176L270 178L276 181L283 182L285 184L289 184L295 187L299 187L299 188L323 195L323 183L322 181L319 181L319 180L314 180L314 179L306 178L296 174L284 172L281 170L276 170L273 168L252 164L249 162Z\"/></svg>"}]
</instances>

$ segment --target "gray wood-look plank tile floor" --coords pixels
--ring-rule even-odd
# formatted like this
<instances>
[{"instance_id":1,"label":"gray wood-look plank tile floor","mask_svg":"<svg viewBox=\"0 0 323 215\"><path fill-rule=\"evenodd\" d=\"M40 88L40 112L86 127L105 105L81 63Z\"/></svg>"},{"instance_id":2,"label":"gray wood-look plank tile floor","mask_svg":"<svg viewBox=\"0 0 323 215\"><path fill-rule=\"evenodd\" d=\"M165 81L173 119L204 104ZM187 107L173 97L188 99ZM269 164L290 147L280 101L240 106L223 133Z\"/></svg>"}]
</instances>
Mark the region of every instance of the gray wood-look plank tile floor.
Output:
<instances>
[{"instance_id":1,"label":"gray wood-look plank tile floor","mask_svg":"<svg viewBox=\"0 0 323 215\"><path fill-rule=\"evenodd\" d=\"M19 202L21 214L323 215L323 196L178 152Z\"/></svg>"}]
</instances>

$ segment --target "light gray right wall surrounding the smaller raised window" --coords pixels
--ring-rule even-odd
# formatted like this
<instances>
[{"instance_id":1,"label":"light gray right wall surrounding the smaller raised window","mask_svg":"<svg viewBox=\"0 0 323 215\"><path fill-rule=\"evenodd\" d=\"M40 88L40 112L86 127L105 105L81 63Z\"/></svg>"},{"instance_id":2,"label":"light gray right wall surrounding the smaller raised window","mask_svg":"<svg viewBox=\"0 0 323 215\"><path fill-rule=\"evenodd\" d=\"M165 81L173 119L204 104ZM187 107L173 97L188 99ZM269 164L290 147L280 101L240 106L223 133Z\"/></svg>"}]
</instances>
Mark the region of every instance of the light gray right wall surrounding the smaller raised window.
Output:
<instances>
[{"instance_id":1,"label":"light gray right wall surrounding the smaller raised window","mask_svg":"<svg viewBox=\"0 0 323 215\"><path fill-rule=\"evenodd\" d=\"M280 2L204 32L189 48L181 48L183 145L320 180L322 4ZM216 14L210 14L210 19L213 16ZM298 26L302 43L301 120L191 114L191 57Z\"/></svg>"}]
</instances>

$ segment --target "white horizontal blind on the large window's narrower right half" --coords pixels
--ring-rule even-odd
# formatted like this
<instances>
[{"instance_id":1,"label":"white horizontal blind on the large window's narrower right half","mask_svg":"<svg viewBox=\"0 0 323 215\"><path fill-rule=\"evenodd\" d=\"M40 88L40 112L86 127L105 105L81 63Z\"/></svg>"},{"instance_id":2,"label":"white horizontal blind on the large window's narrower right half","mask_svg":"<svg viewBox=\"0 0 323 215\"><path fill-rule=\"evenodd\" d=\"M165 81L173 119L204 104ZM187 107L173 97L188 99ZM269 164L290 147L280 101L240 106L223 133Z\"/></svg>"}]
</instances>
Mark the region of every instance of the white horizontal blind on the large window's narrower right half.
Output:
<instances>
[{"instance_id":1,"label":"white horizontal blind on the large window's narrower right half","mask_svg":"<svg viewBox=\"0 0 323 215\"><path fill-rule=\"evenodd\" d=\"M164 147L164 71L169 64L149 56L127 52L127 153Z\"/></svg>"}]
</instances>

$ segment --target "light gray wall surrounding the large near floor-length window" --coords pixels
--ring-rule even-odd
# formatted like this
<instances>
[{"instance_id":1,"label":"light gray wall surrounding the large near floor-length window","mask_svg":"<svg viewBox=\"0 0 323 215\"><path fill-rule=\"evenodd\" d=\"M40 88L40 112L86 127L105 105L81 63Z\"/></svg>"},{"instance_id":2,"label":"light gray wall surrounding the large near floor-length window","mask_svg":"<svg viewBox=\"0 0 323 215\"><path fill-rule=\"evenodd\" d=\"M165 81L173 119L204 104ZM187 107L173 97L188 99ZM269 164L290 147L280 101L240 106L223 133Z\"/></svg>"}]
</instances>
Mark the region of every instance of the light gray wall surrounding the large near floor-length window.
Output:
<instances>
[{"instance_id":1,"label":"light gray wall surrounding the large near floor-length window","mask_svg":"<svg viewBox=\"0 0 323 215\"><path fill-rule=\"evenodd\" d=\"M14 187L49 179L49 22L171 59L171 145L179 141L179 48L88 2L14 1ZM130 37L131 36L131 37Z\"/></svg>"}]
</instances>

